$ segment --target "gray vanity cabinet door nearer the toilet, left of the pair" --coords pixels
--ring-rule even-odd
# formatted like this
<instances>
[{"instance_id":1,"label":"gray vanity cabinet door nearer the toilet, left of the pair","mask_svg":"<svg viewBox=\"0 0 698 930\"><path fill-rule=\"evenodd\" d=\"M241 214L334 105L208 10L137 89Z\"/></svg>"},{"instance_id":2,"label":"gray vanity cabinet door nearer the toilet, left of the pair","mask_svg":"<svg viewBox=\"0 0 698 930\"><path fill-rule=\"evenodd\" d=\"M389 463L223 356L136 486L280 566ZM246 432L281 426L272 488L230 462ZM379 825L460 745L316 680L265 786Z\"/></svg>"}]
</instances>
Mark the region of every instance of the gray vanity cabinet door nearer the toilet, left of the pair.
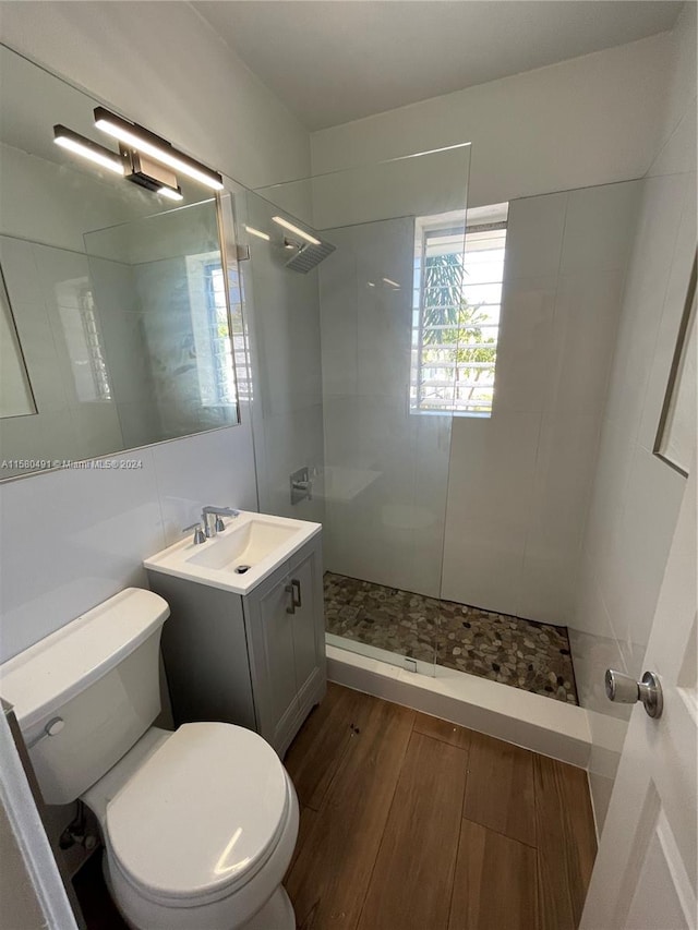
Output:
<instances>
[{"instance_id":1,"label":"gray vanity cabinet door nearer the toilet, left of the pair","mask_svg":"<svg viewBox=\"0 0 698 930\"><path fill-rule=\"evenodd\" d=\"M274 578L274 577L273 577ZM291 594L287 575L265 584L248 601L253 653L252 673L260 733L272 746L282 741L290 721L298 715L293 654L293 615L287 612Z\"/></svg>"}]
</instances>

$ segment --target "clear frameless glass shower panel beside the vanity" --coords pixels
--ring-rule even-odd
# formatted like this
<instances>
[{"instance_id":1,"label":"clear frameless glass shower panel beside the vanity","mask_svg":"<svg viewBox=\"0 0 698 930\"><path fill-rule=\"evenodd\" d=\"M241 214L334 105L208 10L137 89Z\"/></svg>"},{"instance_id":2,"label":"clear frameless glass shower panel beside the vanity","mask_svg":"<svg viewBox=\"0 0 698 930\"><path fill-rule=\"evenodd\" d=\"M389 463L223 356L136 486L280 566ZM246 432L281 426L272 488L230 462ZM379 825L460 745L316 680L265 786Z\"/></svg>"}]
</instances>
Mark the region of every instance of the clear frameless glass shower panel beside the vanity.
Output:
<instances>
[{"instance_id":1,"label":"clear frameless glass shower panel beside the vanity","mask_svg":"<svg viewBox=\"0 0 698 930\"><path fill-rule=\"evenodd\" d=\"M322 512L310 516L305 500L284 512L323 521L328 641L428 674L440 645L456 367L440 362L444 402L420 409L423 342L434 337L424 334L423 230L460 230L465 247L469 154L455 146L266 188L237 210L252 250L261 506L279 512L275 491L310 466ZM279 437L299 439L293 387L314 377L322 450L316 430L290 448Z\"/></svg>"}]
</instances>

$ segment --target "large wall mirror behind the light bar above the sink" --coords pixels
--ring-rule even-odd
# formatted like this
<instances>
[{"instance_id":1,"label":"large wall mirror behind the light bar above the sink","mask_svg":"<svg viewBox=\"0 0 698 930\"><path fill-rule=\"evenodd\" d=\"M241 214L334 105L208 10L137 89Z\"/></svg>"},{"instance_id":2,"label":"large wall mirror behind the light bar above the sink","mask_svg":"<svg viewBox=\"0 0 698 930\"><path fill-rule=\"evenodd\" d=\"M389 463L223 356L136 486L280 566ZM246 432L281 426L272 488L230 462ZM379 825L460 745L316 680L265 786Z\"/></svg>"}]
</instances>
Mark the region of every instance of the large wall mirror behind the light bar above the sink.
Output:
<instances>
[{"instance_id":1,"label":"large wall mirror behind the light bar above the sink","mask_svg":"<svg viewBox=\"0 0 698 930\"><path fill-rule=\"evenodd\" d=\"M220 198L76 157L56 124L119 158L100 101L5 47L0 77L0 480L238 423Z\"/></svg>"}]
</instances>

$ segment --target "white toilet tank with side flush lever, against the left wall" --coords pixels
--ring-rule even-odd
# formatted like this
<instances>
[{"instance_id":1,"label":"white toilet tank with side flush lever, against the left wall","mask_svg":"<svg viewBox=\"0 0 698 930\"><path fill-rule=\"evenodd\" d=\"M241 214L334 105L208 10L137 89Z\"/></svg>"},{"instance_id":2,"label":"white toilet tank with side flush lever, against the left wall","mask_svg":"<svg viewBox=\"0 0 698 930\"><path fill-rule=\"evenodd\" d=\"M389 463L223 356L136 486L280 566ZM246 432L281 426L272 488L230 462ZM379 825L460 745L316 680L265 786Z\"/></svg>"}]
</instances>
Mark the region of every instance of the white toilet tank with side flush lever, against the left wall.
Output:
<instances>
[{"instance_id":1,"label":"white toilet tank with side flush lever, against the left wall","mask_svg":"<svg viewBox=\"0 0 698 930\"><path fill-rule=\"evenodd\" d=\"M168 616L158 594L127 588L0 665L47 804L79 798L160 712Z\"/></svg>"}]
</instances>

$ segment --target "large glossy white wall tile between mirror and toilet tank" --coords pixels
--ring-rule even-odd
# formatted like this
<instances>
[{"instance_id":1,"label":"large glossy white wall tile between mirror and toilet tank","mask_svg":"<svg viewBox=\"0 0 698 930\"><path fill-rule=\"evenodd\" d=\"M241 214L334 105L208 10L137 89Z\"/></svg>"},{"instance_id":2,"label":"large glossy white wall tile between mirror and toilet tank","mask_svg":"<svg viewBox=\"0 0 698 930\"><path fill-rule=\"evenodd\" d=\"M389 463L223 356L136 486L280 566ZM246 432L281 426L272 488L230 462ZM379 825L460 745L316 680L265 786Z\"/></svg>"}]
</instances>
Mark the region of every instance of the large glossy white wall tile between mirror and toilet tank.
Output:
<instances>
[{"instance_id":1,"label":"large glossy white wall tile between mirror and toilet tank","mask_svg":"<svg viewBox=\"0 0 698 930\"><path fill-rule=\"evenodd\" d=\"M149 450L134 469L61 469L5 484L2 657L116 594L145 585L141 560L161 548Z\"/></svg>"}]
</instances>

